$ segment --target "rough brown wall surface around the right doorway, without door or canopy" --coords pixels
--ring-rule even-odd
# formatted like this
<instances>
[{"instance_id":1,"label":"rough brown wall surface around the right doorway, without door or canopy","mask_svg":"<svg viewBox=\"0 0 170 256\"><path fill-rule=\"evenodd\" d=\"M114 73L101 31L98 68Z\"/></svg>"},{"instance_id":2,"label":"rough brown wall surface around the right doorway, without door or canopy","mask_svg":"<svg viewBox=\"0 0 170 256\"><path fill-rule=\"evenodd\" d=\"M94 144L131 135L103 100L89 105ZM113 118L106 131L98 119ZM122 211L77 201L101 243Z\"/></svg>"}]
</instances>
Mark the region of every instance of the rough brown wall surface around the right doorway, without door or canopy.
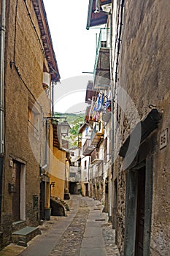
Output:
<instances>
[{"instance_id":1,"label":"rough brown wall surface around the right doorway, without door or canopy","mask_svg":"<svg viewBox=\"0 0 170 256\"><path fill-rule=\"evenodd\" d=\"M169 255L170 211L169 188L170 146L160 149L161 132L169 128L170 113L170 2L125 1L123 33L119 58L118 85L127 92L134 102L140 118L150 112L149 105L155 105L163 113L157 129L157 145L153 154L153 195L150 255ZM129 101L125 102L126 108ZM129 121L120 110L121 143L131 132L129 123L134 121L133 113ZM119 160L117 160L119 162ZM121 165L120 160L120 165ZM119 168L115 163L115 168ZM120 170L120 168L119 168ZM121 172L121 170L120 170ZM123 220L125 206L125 181L123 173L118 175L117 198L117 243L123 253Z\"/></svg>"}]
</instances>

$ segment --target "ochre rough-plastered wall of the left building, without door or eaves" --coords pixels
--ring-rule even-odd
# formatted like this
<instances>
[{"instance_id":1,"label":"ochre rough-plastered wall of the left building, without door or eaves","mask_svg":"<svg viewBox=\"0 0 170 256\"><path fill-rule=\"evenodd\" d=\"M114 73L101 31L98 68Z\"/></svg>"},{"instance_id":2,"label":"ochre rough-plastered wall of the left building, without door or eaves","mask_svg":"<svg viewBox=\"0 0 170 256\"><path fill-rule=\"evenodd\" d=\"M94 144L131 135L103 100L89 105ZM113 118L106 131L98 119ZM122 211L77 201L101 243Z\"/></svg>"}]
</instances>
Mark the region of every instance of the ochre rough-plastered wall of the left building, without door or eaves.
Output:
<instances>
[{"instance_id":1,"label":"ochre rough-plastered wall of the left building, without door or eaves","mask_svg":"<svg viewBox=\"0 0 170 256\"><path fill-rule=\"evenodd\" d=\"M40 38L39 26L31 1L26 1L34 26ZM33 195L39 197L39 163L44 156L44 142L39 127L38 138L33 138L34 153L28 136L28 104L33 104L42 94L42 74L47 61L37 39L24 1L18 1L15 25L16 1L7 0L5 39L5 162L4 191L1 214L3 245L9 243L12 232L12 193L8 184L12 182L12 167L9 160L26 163L26 222L38 225L39 210L33 209ZM41 42L41 41L40 41ZM41 42L42 44L42 42ZM12 62L11 62L12 61ZM10 65L11 64L11 65ZM15 67L18 67L18 72ZM38 105L39 124L42 124L41 106ZM49 112L49 110L47 110ZM45 113L46 116L46 113ZM41 152L42 151L42 152ZM44 160L44 159L43 159ZM42 165L44 162L42 161ZM15 227L16 228L16 227ZM18 228L20 226L18 225Z\"/></svg>"}]
</instances>

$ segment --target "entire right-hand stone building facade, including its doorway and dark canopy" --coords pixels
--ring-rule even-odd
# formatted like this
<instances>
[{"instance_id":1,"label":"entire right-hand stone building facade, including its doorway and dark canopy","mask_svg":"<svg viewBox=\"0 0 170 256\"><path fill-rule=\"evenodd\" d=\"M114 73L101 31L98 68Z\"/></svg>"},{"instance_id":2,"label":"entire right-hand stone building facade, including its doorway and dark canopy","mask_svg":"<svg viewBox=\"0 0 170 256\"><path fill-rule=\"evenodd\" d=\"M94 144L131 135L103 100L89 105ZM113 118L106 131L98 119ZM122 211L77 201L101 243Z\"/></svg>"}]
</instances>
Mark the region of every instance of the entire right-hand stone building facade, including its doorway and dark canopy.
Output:
<instances>
[{"instance_id":1,"label":"entire right-hand stone building facade, including its doorway and dark canopy","mask_svg":"<svg viewBox=\"0 0 170 256\"><path fill-rule=\"evenodd\" d=\"M126 256L169 255L170 3L131 0L112 7L117 245Z\"/></svg>"}]
</instances>

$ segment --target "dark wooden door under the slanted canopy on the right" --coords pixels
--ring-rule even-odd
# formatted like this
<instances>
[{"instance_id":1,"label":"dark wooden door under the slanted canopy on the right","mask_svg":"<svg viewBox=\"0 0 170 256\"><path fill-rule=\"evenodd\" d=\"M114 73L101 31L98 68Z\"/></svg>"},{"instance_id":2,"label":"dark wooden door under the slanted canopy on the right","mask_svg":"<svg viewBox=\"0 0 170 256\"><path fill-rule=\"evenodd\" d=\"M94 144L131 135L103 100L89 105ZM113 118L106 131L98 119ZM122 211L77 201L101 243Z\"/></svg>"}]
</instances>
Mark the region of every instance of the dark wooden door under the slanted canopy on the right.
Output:
<instances>
[{"instance_id":1,"label":"dark wooden door under the slanted canopy on the right","mask_svg":"<svg viewBox=\"0 0 170 256\"><path fill-rule=\"evenodd\" d=\"M145 167L139 169L137 184L135 256L143 256Z\"/></svg>"}]
</instances>

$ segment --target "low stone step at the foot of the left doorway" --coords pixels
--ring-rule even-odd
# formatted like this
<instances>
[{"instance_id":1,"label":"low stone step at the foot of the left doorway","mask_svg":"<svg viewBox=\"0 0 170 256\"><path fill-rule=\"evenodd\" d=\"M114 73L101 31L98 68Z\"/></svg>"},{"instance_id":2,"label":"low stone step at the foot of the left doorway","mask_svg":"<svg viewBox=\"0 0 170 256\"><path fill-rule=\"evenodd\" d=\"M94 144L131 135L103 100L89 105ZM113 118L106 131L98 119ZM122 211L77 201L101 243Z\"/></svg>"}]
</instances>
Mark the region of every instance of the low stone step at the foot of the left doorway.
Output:
<instances>
[{"instance_id":1,"label":"low stone step at the foot of the left doorway","mask_svg":"<svg viewBox=\"0 0 170 256\"><path fill-rule=\"evenodd\" d=\"M12 243L27 246L27 242L39 234L39 227L24 227L12 233Z\"/></svg>"}]
</instances>

